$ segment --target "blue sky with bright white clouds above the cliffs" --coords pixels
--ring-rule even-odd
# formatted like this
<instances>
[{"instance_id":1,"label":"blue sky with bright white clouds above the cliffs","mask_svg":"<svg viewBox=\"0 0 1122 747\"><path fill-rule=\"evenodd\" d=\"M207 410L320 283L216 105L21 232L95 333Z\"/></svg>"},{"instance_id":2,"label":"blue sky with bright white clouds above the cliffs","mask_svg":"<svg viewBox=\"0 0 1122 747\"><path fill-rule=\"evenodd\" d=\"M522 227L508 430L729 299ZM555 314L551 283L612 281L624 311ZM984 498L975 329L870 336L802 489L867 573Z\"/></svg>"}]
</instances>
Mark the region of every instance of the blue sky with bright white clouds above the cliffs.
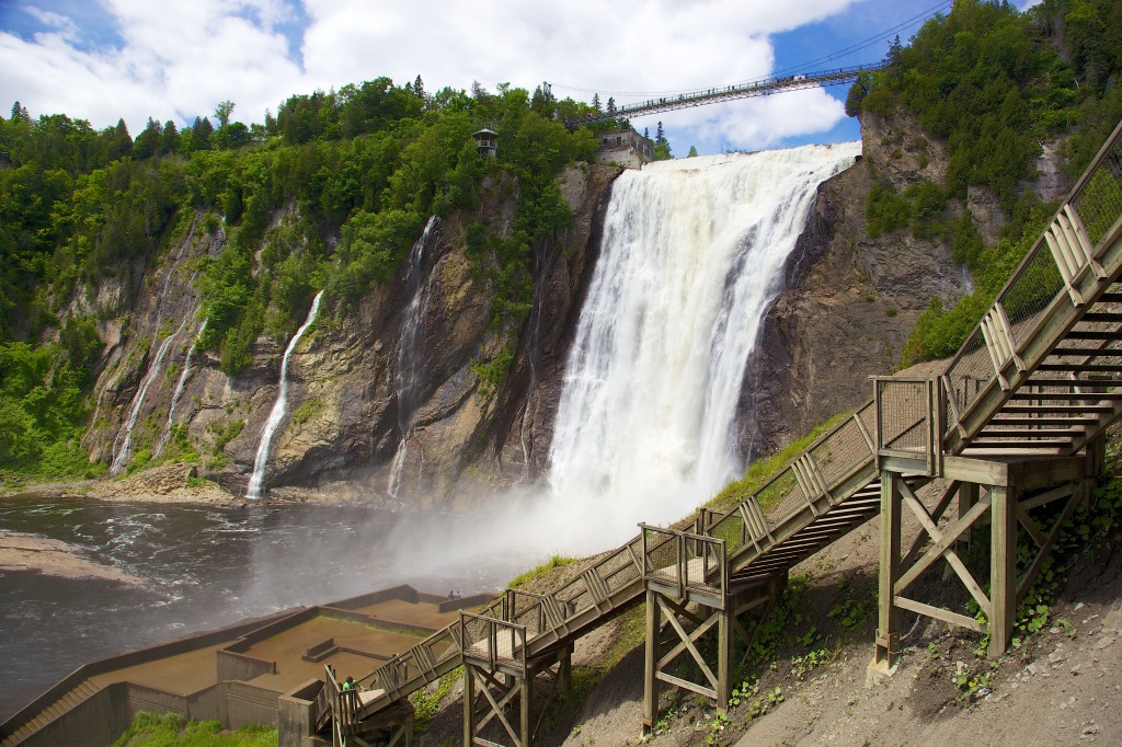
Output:
<instances>
[{"instance_id":1,"label":"blue sky with bright white clouds above the cliffs","mask_svg":"<svg viewBox=\"0 0 1122 747\"><path fill-rule=\"evenodd\" d=\"M1036 0L1018 0L1018 7ZM263 122L289 95L421 75L499 83L618 104L795 68L874 63L907 43L940 0L0 0L0 112L64 113L101 129L149 117L182 127L234 103ZM817 63L817 64L811 64ZM809 66L808 66L809 65ZM674 155L760 150L859 137L847 85L635 118L659 121ZM628 94L636 95L628 95ZM214 120L217 121L217 120Z\"/></svg>"}]
</instances>

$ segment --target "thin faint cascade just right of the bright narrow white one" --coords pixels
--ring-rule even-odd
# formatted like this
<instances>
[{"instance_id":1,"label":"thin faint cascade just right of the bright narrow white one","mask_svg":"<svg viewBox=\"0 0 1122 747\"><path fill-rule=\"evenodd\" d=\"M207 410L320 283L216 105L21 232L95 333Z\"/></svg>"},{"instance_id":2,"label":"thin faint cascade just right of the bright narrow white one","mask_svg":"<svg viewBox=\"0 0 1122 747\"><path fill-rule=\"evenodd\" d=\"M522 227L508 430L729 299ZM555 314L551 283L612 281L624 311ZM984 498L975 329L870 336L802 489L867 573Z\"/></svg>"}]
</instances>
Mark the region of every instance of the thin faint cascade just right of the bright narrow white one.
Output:
<instances>
[{"instance_id":1,"label":"thin faint cascade just right of the bright narrow white one","mask_svg":"<svg viewBox=\"0 0 1122 747\"><path fill-rule=\"evenodd\" d=\"M405 468L413 415L417 407L417 381L423 374L421 367L424 361L424 316L429 308L429 290L432 287L425 247L430 234L439 224L440 219L435 215L429 219L421 238L410 250L406 265L405 293L410 304L402 316L402 333L397 341L397 370L394 374L394 388L397 394L397 432L402 440L397 444L397 453L394 454L389 482L386 487L386 491L394 498L401 490L402 470Z\"/></svg>"}]
</instances>

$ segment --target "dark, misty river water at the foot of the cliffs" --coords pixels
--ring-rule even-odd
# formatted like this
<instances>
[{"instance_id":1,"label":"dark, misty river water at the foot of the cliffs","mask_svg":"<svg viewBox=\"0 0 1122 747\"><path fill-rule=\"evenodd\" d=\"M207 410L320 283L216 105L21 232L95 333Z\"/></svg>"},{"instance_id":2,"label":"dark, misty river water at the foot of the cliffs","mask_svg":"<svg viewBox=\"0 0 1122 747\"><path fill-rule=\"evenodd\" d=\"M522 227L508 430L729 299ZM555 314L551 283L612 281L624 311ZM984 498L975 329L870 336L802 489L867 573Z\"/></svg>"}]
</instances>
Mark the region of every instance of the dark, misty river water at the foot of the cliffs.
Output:
<instances>
[{"instance_id":1,"label":"dark, misty river water at the foot of the cliffs","mask_svg":"<svg viewBox=\"0 0 1122 747\"><path fill-rule=\"evenodd\" d=\"M145 588L0 573L0 720L86 662L399 583L495 591L539 559L449 552L469 519L361 506L0 499L0 529L81 547Z\"/></svg>"}]
</instances>

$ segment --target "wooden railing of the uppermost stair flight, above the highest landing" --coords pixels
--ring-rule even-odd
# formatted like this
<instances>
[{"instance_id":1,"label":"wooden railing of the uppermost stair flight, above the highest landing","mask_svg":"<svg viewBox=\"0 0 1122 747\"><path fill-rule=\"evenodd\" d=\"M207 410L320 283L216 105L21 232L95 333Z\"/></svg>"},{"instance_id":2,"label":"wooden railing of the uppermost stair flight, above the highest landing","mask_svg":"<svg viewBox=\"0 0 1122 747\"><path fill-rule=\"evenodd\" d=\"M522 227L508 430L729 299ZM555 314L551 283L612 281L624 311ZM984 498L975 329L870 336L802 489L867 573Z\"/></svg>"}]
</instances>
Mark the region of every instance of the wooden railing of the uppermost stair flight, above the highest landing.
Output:
<instances>
[{"instance_id":1,"label":"wooden railing of the uppermost stair flight, above the highest landing","mask_svg":"<svg viewBox=\"0 0 1122 747\"><path fill-rule=\"evenodd\" d=\"M1083 305L1079 280L1087 273L1102 271L1097 258L1118 237L1120 218L1122 123L947 367L948 436L986 391L1010 388L1005 370L1011 363L1026 370L1039 362L1023 360L1026 345L1040 333L1046 312L1055 304Z\"/></svg>"}]
</instances>

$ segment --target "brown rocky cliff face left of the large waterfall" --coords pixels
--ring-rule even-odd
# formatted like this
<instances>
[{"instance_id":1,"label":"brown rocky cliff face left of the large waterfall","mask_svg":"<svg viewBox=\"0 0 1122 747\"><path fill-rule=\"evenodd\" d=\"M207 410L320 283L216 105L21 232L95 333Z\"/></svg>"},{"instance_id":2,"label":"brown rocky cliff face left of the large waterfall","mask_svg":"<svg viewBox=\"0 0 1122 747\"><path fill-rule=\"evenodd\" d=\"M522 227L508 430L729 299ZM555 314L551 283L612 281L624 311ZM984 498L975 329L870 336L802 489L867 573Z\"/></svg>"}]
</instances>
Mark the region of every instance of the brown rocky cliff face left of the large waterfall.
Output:
<instances>
[{"instance_id":1,"label":"brown rocky cliff face left of the large waterfall","mask_svg":"<svg viewBox=\"0 0 1122 747\"><path fill-rule=\"evenodd\" d=\"M288 416L274 437L266 479L270 495L311 489L457 508L478 488L490 492L535 477L548 457L567 331L596 246L596 212L618 173L578 166L562 176L574 224L533 247L534 303L516 328L493 324L491 290L463 241L470 220L486 220L500 236L509 230L508 185L487 185L478 215L433 221L414 248L421 259L356 308L325 305L292 356ZM219 370L217 357L190 352L202 324L191 268L223 246L221 227L208 230L196 219L148 274L147 292L122 328L102 330L111 345L85 440L91 458L117 457L123 470L149 455L195 451L201 474L245 489L283 350L258 341L254 363L234 377ZM514 352L509 371L498 386L480 387L475 365L504 348ZM126 444L131 453L122 459Z\"/></svg>"}]
</instances>

